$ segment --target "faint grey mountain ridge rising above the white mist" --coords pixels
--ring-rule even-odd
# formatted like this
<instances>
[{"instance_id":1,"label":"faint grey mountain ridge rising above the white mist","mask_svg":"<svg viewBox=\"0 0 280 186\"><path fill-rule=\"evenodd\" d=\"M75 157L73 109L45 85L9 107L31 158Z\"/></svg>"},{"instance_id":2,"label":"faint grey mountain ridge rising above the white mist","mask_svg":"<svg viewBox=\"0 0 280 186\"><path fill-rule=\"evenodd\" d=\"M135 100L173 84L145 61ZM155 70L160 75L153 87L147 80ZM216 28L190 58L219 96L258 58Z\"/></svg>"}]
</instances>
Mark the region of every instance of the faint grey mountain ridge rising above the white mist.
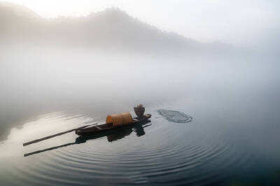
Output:
<instances>
[{"instance_id":1,"label":"faint grey mountain ridge rising above the white mist","mask_svg":"<svg viewBox=\"0 0 280 186\"><path fill-rule=\"evenodd\" d=\"M0 41L66 44L98 48L125 48L138 51L207 50L201 44L160 29L127 15L119 8L108 8L80 18L45 19L25 6L0 3ZM218 47L223 47L219 44Z\"/></svg>"}]
</instances>

